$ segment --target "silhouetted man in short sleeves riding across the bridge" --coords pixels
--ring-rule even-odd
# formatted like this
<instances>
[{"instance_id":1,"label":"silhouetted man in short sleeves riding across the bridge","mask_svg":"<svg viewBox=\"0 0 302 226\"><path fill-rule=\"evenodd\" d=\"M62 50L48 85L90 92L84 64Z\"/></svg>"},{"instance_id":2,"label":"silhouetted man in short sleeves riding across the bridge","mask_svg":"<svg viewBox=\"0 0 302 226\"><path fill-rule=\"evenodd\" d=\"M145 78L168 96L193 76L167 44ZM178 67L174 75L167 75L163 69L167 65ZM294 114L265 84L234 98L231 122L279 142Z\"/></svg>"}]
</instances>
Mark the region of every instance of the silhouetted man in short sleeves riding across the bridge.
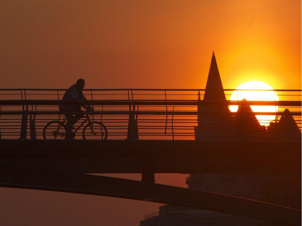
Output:
<instances>
[{"instance_id":1,"label":"silhouetted man in short sleeves riding across the bridge","mask_svg":"<svg viewBox=\"0 0 302 226\"><path fill-rule=\"evenodd\" d=\"M64 96L62 98L63 101L71 101L71 100L86 100L82 89L85 86L85 80L80 78L77 80L76 84L70 86ZM73 125L79 121L80 118L84 116L84 111L81 110L81 107L85 108L87 111L94 111L94 109L89 105L60 105L60 111L66 116L66 136L65 139L73 139L74 134L72 134L72 129L74 129ZM73 116L75 115L75 116Z\"/></svg>"}]
</instances>

